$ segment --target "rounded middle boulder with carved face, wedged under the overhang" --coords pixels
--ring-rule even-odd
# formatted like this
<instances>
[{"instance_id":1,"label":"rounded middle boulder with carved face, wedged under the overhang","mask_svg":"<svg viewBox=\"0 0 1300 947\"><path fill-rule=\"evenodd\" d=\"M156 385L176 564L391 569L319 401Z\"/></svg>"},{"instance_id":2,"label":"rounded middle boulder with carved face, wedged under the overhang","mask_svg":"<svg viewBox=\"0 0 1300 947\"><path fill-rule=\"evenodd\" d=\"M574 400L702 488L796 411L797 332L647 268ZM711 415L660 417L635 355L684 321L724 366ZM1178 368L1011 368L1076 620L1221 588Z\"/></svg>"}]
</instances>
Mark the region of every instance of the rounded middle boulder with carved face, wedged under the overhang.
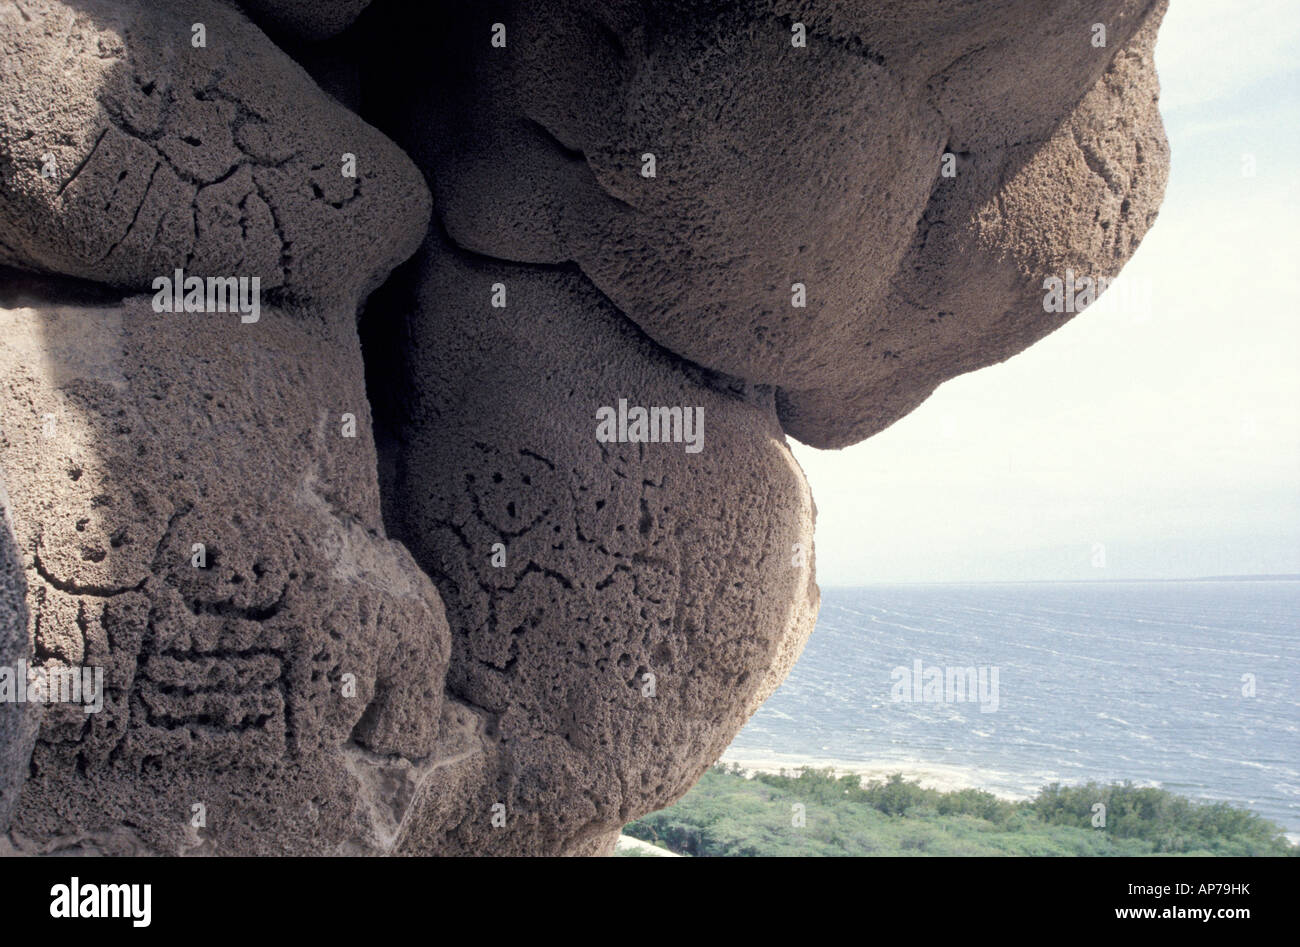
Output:
<instances>
[{"instance_id":1,"label":"rounded middle boulder with carved face, wedged under the overhang","mask_svg":"<svg viewBox=\"0 0 1300 947\"><path fill-rule=\"evenodd\" d=\"M581 273L438 242L413 269L389 340L407 384L385 406L403 419L381 437L386 519L438 584L447 691L490 714L494 756L456 817L412 816L403 851L604 851L694 783L802 649L807 484L771 390L664 353ZM702 441L601 442L620 399L701 410Z\"/></svg>"}]
</instances>

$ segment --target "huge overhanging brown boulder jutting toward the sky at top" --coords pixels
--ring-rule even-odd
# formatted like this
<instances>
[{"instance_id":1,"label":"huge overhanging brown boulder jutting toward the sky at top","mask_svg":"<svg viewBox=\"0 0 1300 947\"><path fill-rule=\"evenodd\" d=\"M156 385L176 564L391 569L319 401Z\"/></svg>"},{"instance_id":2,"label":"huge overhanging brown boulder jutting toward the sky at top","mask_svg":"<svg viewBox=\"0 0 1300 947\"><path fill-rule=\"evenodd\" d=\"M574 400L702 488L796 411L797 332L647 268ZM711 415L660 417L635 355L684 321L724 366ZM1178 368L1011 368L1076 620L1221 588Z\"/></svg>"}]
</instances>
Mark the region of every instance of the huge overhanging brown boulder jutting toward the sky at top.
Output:
<instances>
[{"instance_id":1,"label":"huge overhanging brown boulder jutting toward the sky at top","mask_svg":"<svg viewBox=\"0 0 1300 947\"><path fill-rule=\"evenodd\" d=\"M436 53L391 60L416 92L398 103L398 140L430 172L456 243L576 261L670 350L777 388L788 433L845 446L1058 328L1044 277L1112 277L1132 252L1167 167L1152 62L1162 12L439 9L450 25L410 31ZM491 20L510 29L504 48L486 42ZM794 284L806 307L792 306Z\"/></svg>"}]
</instances>

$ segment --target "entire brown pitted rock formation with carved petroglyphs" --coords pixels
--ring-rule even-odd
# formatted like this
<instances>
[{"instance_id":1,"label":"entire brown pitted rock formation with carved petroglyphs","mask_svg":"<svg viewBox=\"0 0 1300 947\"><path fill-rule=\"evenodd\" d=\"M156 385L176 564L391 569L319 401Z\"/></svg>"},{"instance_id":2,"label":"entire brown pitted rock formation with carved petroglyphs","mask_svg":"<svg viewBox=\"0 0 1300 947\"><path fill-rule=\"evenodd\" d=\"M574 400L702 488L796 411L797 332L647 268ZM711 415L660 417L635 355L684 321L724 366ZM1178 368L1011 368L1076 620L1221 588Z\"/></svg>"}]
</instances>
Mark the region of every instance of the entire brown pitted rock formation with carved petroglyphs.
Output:
<instances>
[{"instance_id":1,"label":"entire brown pitted rock formation with carved petroglyphs","mask_svg":"<svg viewBox=\"0 0 1300 947\"><path fill-rule=\"evenodd\" d=\"M785 436L1058 327L1164 187L1160 1L365 5L242 4L307 72L221 0L0 5L0 660L107 684L0 706L0 848L610 853L811 631Z\"/></svg>"}]
</instances>

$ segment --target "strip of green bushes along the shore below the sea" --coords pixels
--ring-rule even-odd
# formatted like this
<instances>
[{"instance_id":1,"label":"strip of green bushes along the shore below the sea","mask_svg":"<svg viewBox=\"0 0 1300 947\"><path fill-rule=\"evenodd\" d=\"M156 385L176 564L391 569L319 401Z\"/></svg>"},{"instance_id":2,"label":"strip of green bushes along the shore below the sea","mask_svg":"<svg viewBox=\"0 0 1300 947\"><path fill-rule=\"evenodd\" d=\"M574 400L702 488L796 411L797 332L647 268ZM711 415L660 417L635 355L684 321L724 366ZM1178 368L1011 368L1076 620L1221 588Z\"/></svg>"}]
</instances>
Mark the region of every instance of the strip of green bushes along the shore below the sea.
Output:
<instances>
[{"instance_id":1,"label":"strip of green bushes along the shore below the sea","mask_svg":"<svg viewBox=\"0 0 1300 947\"><path fill-rule=\"evenodd\" d=\"M1105 827L1092 825L1097 803ZM1008 801L926 790L900 774L868 783L814 769L746 778L723 765L624 833L698 856L1296 855L1282 829L1253 812L1131 783L1052 784Z\"/></svg>"}]
</instances>

